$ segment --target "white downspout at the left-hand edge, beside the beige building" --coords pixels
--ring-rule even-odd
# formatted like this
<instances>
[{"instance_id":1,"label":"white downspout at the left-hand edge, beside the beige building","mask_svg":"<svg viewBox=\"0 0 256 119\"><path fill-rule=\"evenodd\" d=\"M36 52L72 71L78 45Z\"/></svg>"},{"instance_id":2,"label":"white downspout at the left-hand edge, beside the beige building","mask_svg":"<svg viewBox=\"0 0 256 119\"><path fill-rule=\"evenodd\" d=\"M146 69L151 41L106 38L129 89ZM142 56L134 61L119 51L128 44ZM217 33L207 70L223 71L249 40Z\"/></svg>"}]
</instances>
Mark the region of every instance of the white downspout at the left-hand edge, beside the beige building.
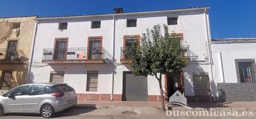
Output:
<instances>
[{"instance_id":1,"label":"white downspout at the left-hand edge, beside the beige building","mask_svg":"<svg viewBox=\"0 0 256 119\"><path fill-rule=\"evenodd\" d=\"M32 40L32 48L30 50L30 60L29 60L29 71L27 73L27 80L26 83L32 83L32 81L30 80L30 74L31 74L31 67L32 67L32 63L33 63L33 55L34 55L34 48L35 48L35 40L36 40L36 33L38 30L38 22L35 20L35 28L34 28L34 33L33 33L33 40Z\"/></svg>"}]
</instances>

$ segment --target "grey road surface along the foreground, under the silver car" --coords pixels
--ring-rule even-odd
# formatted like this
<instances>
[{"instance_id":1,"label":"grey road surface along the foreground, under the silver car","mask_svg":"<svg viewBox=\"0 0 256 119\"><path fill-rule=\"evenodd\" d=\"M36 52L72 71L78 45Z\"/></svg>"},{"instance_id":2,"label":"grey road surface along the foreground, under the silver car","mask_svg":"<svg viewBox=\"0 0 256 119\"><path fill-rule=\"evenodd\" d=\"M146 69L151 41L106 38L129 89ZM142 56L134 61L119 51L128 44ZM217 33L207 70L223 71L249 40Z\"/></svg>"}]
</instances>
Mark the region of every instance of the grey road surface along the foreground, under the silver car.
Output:
<instances>
[{"instance_id":1,"label":"grey road surface along the foreground, under the silver car","mask_svg":"<svg viewBox=\"0 0 256 119\"><path fill-rule=\"evenodd\" d=\"M113 109L83 109L83 108L72 108L72 109L67 109L66 111L62 111L62 112L58 112L54 118L93 118L93 119L119 119L119 118L124 118L124 119L128 119L128 118L137 118L137 119L142 119L142 118L181 118L181 119L193 119L193 118L209 118L209 119L214 119L214 118L227 118L227 119L231 119L231 118L256 118L256 116L252 116L252 117L167 117L165 115L165 113L163 112L159 112L153 109L153 111L149 111L149 109L145 109L143 110L144 112L141 112L142 110L137 109L138 112L136 114L132 114L132 113L122 113L124 112L124 110L127 109L119 109L119 108L113 108ZM141 113L140 113L141 112ZM145 112L149 112L151 114L147 114ZM41 115L39 114L6 114L3 117L0 118L4 118L4 119L27 119L27 118L42 118Z\"/></svg>"}]
</instances>

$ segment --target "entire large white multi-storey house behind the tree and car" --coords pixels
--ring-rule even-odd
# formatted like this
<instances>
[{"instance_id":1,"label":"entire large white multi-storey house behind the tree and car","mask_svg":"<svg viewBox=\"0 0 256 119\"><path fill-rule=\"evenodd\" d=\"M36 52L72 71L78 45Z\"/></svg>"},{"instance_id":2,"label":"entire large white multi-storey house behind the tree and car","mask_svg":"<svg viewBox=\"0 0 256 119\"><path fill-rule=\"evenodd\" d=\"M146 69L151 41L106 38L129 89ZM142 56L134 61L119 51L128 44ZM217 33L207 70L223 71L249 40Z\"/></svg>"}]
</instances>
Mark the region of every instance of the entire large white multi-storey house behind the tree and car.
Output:
<instances>
[{"instance_id":1,"label":"entire large white multi-storey house behind the tree and car","mask_svg":"<svg viewBox=\"0 0 256 119\"><path fill-rule=\"evenodd\" d=\"M134 76L125 48L156 24L168 24L180 37L190 62L180 78L163 76L166 96L175 90L188 100L211 101L216 94L209 54L208 7L36 18L38 27L30 82L63 82L78 99L96 101L159 101L153 76ZM170 36L170 37L172 37Z\"/></svg>"}]
</instances>

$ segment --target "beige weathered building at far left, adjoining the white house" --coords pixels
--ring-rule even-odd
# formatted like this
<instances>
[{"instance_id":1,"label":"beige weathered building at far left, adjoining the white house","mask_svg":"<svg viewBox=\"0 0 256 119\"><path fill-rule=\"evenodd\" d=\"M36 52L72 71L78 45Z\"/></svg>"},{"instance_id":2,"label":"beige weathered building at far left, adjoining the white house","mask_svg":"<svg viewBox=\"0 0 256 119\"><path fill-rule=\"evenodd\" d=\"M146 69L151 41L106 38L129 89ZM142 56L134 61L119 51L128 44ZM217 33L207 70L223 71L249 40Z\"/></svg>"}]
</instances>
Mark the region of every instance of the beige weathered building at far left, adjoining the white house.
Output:
<instances>
[{"instance_id":1,"label":"beige weathered building at far left, adjoining the white house","mask_svg":"<svg viewBox=\"0 0 256 119\"><path fill-rule=\"evenodd\" d=\"M0 90L26 83L35 18L0 18ZM2 93L1 92L1 93Z\"/></svg>"}]
</instances>

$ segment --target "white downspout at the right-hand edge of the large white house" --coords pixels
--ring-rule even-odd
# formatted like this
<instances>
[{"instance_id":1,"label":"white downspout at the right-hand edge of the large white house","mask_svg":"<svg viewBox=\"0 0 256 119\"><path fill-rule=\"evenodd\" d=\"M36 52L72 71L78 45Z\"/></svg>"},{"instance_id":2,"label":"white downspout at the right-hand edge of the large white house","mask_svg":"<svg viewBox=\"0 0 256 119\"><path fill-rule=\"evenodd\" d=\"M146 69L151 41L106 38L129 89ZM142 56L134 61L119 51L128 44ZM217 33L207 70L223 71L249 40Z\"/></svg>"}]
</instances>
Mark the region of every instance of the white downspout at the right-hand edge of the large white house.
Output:
<instances>
[{"instance_id":1,"label":"white downspout at the right-hand edge of the large white house","mask_svg":"<svg viewBox=\"0 0 256 119\"><path fill-rule=\"evenodd\" d=\"M212 82L214 82L214 76L213 76L213 72L212 72L212 54L211 54L211 46L209 45L209 30L208 30L208 19L207 19L207 15L206 15L206 9L203 11L203 14L205 14L205 23L206 23L206 35L207 35L207 49L208 49L208 55L209 55L209 59L208 59L208 64L209 67L211 69L211 78L212 78ZM215 90L217 92L217 90ZM214 102L216 101L215 99L215 95L212 95L214 97ZM210 98L211 100L211 98Z\"/></svg>"}]
</instances>

